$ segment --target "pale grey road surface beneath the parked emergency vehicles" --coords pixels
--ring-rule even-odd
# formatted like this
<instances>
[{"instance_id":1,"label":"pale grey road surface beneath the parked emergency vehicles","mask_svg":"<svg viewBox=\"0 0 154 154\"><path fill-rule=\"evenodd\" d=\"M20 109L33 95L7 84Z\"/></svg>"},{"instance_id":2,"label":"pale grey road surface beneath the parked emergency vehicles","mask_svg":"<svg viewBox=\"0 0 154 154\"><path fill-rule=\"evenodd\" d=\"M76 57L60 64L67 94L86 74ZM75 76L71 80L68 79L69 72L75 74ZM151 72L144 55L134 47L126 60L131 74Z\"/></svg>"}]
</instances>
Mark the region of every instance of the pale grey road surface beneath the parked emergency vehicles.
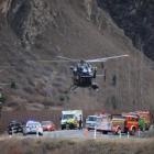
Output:
<instances>
[{"instance_id":1,"label":"pale grey road surface beneath the parked emergency vehicles","mask_svg":"<svg viewBox=\"0 0 154 154\"><path fill-rule=\"evenodd\" d=\"M114 135L112 133L108 134L102 134L101 132L95 132L92 131L85 131L85 130L57 130L57 131L52 131L52 132L43 132L43 136L45 138L51 138L51 139L80 139L80 140L87 140L87 139L120 139L120 138L130 138L130 139L135 139L135 138L142 138L143 132L136 132L134 136L128 135L128 134L121 134L121 135ZM19 138L25 138L23 134L13 134L13 135L8 135L3 134L1 138L13 138L13 136L19 136ZM36 134L28 134L28 138L37 138Z\"/></svg>"}]
</instances>

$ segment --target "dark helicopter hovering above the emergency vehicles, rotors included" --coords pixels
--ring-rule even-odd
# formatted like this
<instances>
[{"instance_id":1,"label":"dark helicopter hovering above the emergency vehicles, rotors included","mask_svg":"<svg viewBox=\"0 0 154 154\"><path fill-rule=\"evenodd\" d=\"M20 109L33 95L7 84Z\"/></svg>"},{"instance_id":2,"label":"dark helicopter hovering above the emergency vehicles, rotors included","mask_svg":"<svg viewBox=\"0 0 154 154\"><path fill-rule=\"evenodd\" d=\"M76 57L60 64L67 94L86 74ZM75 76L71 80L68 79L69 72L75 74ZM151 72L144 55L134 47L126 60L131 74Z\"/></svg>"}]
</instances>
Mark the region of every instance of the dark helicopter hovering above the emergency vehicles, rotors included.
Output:
<instances>
[{"instance_id":1,"label":"dark helicopter hovering above the emergency vehicles, rotors included","mask_svg":"<svg viewBox=\"0 0 154 154\"><path fill-rule=\"evenodd\" d=\"M70 86L70 91L78 87L89 87L95 90L99 89L98 84L95 81L97 76L102 76L106 80L106 70L103 75L97 75L97 67L92 66L92 63L103 63L109 59L116 59L121 57L128 57L129 55L110 56L95 59L73 59L69 57L57 56L66 62L76 62L76 65L70 66L73 73L73 85Z\"/></svg>"}]
</instances>

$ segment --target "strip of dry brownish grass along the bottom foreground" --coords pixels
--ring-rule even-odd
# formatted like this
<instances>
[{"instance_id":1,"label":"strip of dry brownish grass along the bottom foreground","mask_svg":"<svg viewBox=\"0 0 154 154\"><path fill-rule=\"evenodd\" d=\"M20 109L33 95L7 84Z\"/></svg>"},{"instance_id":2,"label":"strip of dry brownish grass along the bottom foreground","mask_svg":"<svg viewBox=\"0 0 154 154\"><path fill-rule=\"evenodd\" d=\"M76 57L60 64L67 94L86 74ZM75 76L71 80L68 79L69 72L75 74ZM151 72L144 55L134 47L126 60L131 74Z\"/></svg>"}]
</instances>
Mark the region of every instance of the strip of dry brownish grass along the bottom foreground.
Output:
<instances>
[{"instance_id":1,"label":"strip of dry brownish grass along the bottom foreground","mask_svg":"<svg viewBox=\"0 0 154 154\"><path fill-rule=\"evenodd\" d=\"M51 140L8 139L0 141L3 154L153 154L154 139Z\"/></svg>"}]
</instances>

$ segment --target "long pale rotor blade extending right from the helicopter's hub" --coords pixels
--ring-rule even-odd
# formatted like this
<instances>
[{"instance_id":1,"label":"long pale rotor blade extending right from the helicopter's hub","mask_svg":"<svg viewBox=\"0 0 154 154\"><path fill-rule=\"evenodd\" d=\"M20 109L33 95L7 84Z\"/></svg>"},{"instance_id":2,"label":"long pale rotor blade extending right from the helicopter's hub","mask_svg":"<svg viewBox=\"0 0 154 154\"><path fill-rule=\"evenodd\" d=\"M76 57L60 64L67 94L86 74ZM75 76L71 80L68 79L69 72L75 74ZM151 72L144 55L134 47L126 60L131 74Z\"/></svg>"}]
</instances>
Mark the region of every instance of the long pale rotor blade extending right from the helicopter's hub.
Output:
<instances>
[{"instance_id":1,"label":"long pale rotor blade extending right from the helicopter's hub","mask_svg":"<svg viewBox=\"0 0 154 154\"><path fill-rule=\"evenodd\" d=\"M98 62L107 62L108 59L116 59L121 57L128 57L129 55L119 55L119 56L111 56L111 57L103 57L103 58L96 58L96 59L87 59L88 63L98 63Z\"/></svg>"}]
</instances>

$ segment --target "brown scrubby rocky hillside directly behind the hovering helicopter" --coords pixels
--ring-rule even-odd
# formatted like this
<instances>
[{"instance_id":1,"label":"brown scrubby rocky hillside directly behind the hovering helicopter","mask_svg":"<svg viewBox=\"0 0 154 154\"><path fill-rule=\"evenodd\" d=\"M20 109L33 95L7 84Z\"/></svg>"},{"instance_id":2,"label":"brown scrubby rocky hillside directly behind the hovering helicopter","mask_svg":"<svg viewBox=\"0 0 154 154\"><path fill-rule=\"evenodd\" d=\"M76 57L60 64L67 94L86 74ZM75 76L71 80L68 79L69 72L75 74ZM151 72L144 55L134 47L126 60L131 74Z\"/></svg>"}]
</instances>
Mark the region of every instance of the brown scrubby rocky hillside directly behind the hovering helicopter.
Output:
<instances>
[{"instance_id":1,"label":"brown scrubby rocky hillside directly behind the hovering helicopter","mask_svg":"<svg viewBox=\"0 0 154 154\"><path fill-rule=\"evenodd\" d=\"M0 81L14 85L1 85L7 98L3 110L154 109L153 62L133 47L96 0L0 3L0 65L9 66L1 68ZM95 58L120 54L130 57L105 64L107 80L97 79L98 92L80 88L69 92L69 64L46 62L58 55Z\"/></svg>"}]
</instances>

